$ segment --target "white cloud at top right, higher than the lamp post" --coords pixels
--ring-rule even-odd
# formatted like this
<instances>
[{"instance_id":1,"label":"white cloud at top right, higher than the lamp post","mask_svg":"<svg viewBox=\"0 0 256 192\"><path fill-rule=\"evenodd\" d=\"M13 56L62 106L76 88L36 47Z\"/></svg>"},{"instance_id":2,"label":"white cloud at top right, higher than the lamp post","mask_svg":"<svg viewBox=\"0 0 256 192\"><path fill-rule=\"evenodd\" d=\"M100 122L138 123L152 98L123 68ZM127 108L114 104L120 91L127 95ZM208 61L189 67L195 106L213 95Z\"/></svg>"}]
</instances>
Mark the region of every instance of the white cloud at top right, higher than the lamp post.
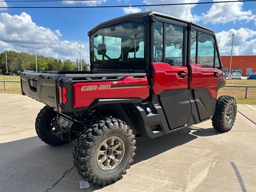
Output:
<instances>
[{"instance_id":1,"label":"white cloud at top right, higher than the lamp post","mask_svg":"<svg viewBox=\"0 0 256 192\"><path fill-rule=\"evenodd\" d=\"M214 0L231 1L231 0ZM238 1L238 0L236 0ZM230 21L253 21L256 15L251 10L243 11L242 2L237 3L217 3L213 4L209 11L202 14L204 23L227 23Z\"/></svg>"}]
</instances>

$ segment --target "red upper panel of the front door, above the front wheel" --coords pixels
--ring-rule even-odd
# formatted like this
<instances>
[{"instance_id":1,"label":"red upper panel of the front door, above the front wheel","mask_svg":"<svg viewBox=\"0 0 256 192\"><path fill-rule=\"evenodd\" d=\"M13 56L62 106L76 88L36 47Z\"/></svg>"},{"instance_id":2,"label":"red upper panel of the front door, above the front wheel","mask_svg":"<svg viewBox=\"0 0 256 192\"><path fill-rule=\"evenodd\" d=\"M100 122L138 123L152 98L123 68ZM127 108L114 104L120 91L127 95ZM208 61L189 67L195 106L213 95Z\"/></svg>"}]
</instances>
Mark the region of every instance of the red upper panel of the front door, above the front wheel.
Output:
<instances>
[{"instance_id":1,"label":"red upper panel of the front door, above the front wheel","mask_svg":"<svg viewBox=\"0 0 256 192\"><path fill-rule=\"evenodd\" d=\"M212 98L217 98L217 86L222 78L222 71L215 68L203 68L199 64L190 64L189 88L207 88ZM215 74L219 74L216 77Z\"/></svg>"}]
</instances>

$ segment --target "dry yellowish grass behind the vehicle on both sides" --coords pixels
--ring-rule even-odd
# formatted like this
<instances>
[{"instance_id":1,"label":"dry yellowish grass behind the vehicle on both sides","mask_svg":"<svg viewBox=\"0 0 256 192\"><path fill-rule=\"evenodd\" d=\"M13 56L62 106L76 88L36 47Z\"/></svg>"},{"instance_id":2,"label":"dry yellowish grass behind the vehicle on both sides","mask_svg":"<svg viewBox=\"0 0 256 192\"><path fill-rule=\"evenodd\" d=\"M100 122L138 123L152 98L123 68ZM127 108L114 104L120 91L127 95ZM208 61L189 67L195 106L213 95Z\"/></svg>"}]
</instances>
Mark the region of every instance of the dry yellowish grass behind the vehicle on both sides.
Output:
<instances>
[{"instance_id":1,"label":"dry yellowish grass behind the vehicle on both sides","mask_svg":"<svg viewBox=\"0 0 256 192\"><path fill-rule=\"evenodd\" d=\"M0 81L20 81L19 76L0 75ZM227 85L256 85L256 79L233 79L227 80ZM20 83L5 83L6 90L4 91L4 85L0 83L0 93L20 94ZM239 104L251 104L256 105L256 88L248 88L247 99L244 99L245 88L243 87L223 87L219 90L218 96L231 95Z\"/></svg>"}]
</instances>

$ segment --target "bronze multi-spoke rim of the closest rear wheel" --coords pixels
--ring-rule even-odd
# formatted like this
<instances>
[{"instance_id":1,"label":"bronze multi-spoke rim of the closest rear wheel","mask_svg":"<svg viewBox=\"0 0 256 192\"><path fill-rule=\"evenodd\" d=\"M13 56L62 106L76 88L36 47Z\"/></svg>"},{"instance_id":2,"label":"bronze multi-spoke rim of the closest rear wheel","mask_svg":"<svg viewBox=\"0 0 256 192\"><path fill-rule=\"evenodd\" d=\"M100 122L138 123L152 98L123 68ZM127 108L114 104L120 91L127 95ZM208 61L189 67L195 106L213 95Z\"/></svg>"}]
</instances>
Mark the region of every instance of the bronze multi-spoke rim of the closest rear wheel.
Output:
<instances>
[{"instance_id":1,"label":"bronze multi-spoke rim of the closest rear wheel","mask_svg":"<svg viewBox=\"0 0 256 192\"><path fill-rule=\"evenodd\" d=\"M97 164L102 170L113 170L121 163L125 152L124 142L119 137L109 137L97 151Z\"/></svg>"}]
</instances>

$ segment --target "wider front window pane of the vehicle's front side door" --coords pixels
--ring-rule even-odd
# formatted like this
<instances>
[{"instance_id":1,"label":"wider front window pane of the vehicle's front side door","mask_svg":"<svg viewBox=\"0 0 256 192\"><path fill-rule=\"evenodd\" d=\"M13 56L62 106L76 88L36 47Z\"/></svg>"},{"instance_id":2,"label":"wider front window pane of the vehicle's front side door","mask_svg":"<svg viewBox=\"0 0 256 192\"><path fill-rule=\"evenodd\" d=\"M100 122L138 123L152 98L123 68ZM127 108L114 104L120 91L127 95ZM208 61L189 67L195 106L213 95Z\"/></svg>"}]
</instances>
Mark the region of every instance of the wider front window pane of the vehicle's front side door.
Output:
<instances>
[{"instance_id":1,"label":"wider front window pane of the vehicle's front side door","mask_svg":"<svg viewBox=\"0 0 256 192\"><path fill-rule=\"evenodd\" d=\"M214 38L198 31L198 64L204 68L213 68Z\"/></svg>"}]
</instances>

